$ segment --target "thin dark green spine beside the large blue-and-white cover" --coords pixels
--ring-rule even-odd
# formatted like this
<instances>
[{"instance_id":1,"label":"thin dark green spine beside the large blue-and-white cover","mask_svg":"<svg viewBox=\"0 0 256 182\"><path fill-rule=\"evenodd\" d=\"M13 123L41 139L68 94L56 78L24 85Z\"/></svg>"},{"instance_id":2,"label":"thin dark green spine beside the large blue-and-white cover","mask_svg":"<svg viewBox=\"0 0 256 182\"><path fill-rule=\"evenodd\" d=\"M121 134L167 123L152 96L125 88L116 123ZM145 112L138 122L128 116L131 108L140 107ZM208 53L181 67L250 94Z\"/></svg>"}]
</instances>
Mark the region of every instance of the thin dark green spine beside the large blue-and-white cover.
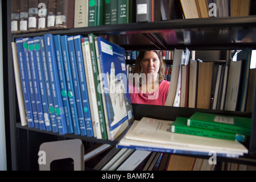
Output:
<instances>
[{"instance_id":1,"label":"thin dark green spine beside the large blue-and-white cover","mask_svg":"<svg viewBox=\"0 0 256 182\"><path fill-rule=\"evenodd\" d=\"M98 85L100 85L100 80L98 80L98 64L97 64L97 59L96 59L96 50L95 50L95 43L94 43L95 37L96 37L96 35L94 35L94 34L88 34L89 44L90 44L90 55L92 56L94 84L95 84L95 88L97 88ZM107 140L108 133L106 130L104 107L103 107L103 103L102 103L101 94L99 92L97 92L97 90L96 90L96 98L97 98L97 104L98 104L98 114L100 117L102 139Z\"/></svg>"}]
</instances>

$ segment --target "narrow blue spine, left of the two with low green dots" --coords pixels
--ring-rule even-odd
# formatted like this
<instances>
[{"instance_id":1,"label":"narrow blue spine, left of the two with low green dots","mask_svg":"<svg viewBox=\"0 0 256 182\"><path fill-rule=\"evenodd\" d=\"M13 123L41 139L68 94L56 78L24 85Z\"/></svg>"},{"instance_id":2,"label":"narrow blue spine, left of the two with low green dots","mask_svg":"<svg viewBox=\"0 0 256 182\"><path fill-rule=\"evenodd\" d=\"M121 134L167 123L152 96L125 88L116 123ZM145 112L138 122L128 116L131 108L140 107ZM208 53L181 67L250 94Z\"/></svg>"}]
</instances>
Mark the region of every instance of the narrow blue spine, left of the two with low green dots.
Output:
<instances>
[{"instance_id":1,"label":"narrow blue spine, left of the two with low green dots","mask_svg":"<svg viewBox=\"0 0 256 182\"><path fill-rule=\"evenodd\" d=\"M54 111L53 99L52 99L51 82L49 80L46 48L44 46L45 45L44 37L40 36L39 39L40 39L40 48L41 48L41 56L42 56L42 64L43 64L42 68L43 68L44 82L46 85L46 95L47 95L47 101L48 101L48 113L51 119L52 132L57 133L58 127L57 127L57 120L56 120L56 115Z\"/></svg>"}]
</instances>

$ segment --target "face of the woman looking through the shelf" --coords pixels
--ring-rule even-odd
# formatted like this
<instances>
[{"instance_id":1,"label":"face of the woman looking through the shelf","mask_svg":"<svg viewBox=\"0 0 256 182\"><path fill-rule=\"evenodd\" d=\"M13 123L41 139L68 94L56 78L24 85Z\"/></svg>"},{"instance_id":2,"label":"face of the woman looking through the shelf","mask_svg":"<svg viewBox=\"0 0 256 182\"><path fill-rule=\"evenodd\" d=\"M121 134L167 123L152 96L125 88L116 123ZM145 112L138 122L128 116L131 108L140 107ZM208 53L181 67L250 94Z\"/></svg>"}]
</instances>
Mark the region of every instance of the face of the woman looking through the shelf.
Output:
<instances>
[{"instance_id":1,"label":"face of the woman looking through the shelf","mask_svg":"<svg viewBox=\"0 0 256 182\"><path fill-rule=\"evenodd\" d=\"M158 73L160 68L160 60L158 55L153 51L147 51L141 61L142 73Z\"/></svg>"}]
</instances>

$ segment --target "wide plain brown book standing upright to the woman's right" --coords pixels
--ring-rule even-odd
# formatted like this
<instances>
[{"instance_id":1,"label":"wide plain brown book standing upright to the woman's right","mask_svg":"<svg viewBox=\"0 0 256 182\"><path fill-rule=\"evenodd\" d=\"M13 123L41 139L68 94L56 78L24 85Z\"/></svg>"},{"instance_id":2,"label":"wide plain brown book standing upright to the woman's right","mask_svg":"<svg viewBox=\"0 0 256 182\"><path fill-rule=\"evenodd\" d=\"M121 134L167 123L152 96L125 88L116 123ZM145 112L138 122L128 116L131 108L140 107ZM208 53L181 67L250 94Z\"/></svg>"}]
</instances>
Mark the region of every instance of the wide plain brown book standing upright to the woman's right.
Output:
<instances>
[{"instance_id":1,"label":"wide plain brown book standing upright to the woman's right","mask_svg":"<svg viewBox=\"0 0 256 182\"><path fill-rule=\"evenodd\" d=\"M199 62L197 77L197 108L211 108L213 65L213 62Z\"/></svg>"}]
</instances>

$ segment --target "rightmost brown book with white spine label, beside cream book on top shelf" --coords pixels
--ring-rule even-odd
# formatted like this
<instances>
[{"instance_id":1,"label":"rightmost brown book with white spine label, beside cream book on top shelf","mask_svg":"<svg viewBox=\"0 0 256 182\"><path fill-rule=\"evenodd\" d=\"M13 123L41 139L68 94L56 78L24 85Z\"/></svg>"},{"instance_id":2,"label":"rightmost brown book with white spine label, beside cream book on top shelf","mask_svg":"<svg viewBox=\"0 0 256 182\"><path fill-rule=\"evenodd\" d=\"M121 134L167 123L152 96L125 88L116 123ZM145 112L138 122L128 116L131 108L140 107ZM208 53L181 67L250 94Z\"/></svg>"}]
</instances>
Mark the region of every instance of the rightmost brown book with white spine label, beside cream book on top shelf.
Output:
<instances>
[{"instance_id":1,"label":"rightmost brown book with white spine label, beside cream book on top shelf","mask_svg":"<svg viewBox=\"0 0 256 182\"><path fill-rule=\"evenodd\" d=\"M55 27L73 28L75 0L57 0Z\"/></svg>"}]
</instances>

